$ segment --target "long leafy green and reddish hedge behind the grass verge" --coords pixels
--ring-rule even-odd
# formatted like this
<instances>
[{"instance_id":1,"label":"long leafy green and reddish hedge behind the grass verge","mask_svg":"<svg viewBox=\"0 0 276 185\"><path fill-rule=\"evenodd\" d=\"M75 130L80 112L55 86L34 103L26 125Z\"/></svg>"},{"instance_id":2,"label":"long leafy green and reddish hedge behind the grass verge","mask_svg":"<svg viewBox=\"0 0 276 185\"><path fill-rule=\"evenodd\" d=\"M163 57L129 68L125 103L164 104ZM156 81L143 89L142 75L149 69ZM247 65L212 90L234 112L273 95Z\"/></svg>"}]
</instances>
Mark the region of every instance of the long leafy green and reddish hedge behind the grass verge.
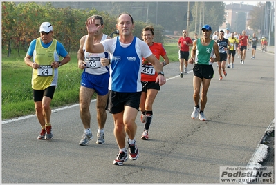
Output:
<instances>
[{"instance_id":1,"label":"long leafy green and reddish hedge behind the grass verge","mask_svg":"<svg viewBox=\"0 0 276 185\"><path fill-rule=\"evenodd\" d=\"M110 35L116 30L117 16L95 8L55 8L51 3L39 5L35 2L2 2L1 6L2 49L8 50L8 57L11 50L16 50L19 56L20 50L26 52L30 41L39 37L39 26L45 21L53 25L54 38L60 41L69 53L77 53L81 37L87 34L85 21L93 14L103 17L105 34ZM163 27L150 22L136 21L134 35L142 39L142 28L149 25L154 26L155 41L163 42Z\"/></svg>"}]
</instances>

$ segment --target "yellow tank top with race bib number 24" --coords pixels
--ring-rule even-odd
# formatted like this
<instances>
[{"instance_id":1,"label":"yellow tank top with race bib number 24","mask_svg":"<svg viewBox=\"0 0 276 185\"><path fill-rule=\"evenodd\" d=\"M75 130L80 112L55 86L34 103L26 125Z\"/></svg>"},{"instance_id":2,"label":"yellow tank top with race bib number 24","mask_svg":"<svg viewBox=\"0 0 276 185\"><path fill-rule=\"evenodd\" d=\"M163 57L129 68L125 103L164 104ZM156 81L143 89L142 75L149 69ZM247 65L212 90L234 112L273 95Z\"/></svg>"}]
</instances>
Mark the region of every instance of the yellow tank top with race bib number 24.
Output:
<instances>
[{"instance_id":1,"label":"yellow tank top with race bib number 24","mask_svg":"<svg viewBox=\"0 0 276 185\"><path fill-rule=\"evenodd\" d=\"M33 60L35 63L39 64L39 68L33 69L33 89L44 90L49 86L57 85L57 68L54 69L50 66L53 61L59 61L56 48L56 39L53 39L48 48L42 46L40 38L36 39Z\"/></svg>"}]
</instances>

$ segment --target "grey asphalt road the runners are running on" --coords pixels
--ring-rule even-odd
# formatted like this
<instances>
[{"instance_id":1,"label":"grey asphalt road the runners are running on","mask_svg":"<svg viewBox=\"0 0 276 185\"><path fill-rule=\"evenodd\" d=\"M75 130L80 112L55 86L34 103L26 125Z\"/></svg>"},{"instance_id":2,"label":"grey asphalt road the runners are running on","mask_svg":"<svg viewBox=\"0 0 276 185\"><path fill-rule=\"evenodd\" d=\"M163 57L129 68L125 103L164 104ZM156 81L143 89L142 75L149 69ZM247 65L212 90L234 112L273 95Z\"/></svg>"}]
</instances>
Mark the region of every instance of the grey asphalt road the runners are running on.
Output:
<instances>
[{"instance_id":1,"label":"grey asphalt road the runners are running on","mask_svg":"<svg viewBox=\"0 0 276 185\"><path fill-rule=\"evenodd\" d=\"M177 55L177 54L176 54ZM106 144L78 143L84 132L79 107L54 110L54 138L37 140L36 117L3 121L2 184L219 184L220 166L246 166L259 140L274 119L274 55L257 51L245 64L236 57L233 69L208 90L207 121L191 119L192 65L183 79L178 62L165 66L167 83L154 101L149 141L140 139L143 124L138 113L136 141L140 157L124 166L113 165L118 146L113 119L107 114ZM95 101L91 103L91 128L95 138Z\"/></svg>"}]
</instances>

